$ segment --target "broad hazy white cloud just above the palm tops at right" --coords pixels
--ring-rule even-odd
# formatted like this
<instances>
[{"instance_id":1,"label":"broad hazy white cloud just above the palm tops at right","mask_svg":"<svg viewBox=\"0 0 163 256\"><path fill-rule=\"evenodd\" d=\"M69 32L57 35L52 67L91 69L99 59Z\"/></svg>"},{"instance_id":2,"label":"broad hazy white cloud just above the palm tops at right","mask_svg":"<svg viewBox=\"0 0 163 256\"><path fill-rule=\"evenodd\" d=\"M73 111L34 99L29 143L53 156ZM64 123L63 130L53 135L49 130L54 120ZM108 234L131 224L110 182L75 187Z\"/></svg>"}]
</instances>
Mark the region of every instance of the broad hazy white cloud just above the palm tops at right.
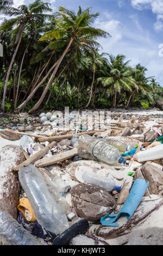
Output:
<instances>
[{"instance_id":1,"label":"broad hazy white cloud just above the palm tops at right","mask_svg":"<svg viewBox=\"0 0 163 256\"><path fill-rule=\"evenodd\" d=\"M115 15L112 15L115 17ZM130 17L134 19L135 16ZM163 57L159 57L159 48L154 38L151 38L148 31L135 29L131 31L122 24L121 21L115 19L108 19L105 15L98 17L95 21L95 26L104 29L111 38L99 39L103 50L101 52L108 52L113 55L124 54L127 60L130 61L131 66L140 63L148 69L147 76L155 76L156 80L163 86Z\"/></svg>"}]
</instances>

